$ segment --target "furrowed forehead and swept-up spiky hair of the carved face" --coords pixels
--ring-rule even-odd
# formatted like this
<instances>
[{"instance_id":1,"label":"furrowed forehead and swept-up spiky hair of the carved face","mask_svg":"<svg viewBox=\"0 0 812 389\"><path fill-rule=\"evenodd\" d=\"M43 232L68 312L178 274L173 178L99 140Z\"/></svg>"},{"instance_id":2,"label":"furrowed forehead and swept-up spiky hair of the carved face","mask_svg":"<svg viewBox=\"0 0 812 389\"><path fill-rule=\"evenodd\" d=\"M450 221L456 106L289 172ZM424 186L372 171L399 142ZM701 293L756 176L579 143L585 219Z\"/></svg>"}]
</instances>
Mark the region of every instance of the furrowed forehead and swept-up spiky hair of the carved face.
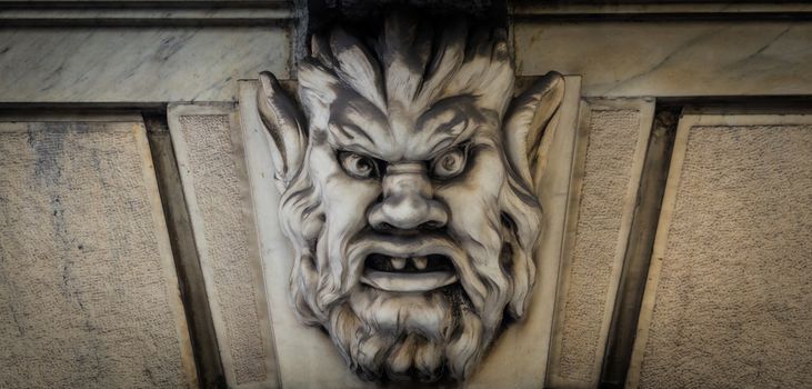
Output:
<instances>
[{"instance_id":1,"label":"furrowed forehead and swept-up spiky hair of the carved face","mask_svg":"<svg viewBox=\"0 0 812 389\"><path fill-rule=\"evenodd\" d=\"M514 82L505 31L420 23L392 16L371 40L340 27L314 34L298 72L311 131L390 161L495 131Z\"/></svg>"}]
</instances>

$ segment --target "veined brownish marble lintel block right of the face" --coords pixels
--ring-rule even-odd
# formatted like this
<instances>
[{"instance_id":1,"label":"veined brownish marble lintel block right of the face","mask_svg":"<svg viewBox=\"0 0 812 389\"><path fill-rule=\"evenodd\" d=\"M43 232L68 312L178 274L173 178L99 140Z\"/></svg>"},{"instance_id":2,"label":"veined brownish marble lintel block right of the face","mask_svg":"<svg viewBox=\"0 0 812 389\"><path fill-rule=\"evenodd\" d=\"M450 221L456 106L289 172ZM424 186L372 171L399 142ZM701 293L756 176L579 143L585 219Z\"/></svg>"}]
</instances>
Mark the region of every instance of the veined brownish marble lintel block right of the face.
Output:
<instances>
[{"instance_id":1,"label":"veined brownish marble lintel block right of the face","mask_svg":"<svg viewBox=\"0 0 812 389\"><path fill-rule=\"evenodd\" d=\"M590 97L812 93L812 22L515 23L518 72L583 77Z\"/></svg>"}]
</instances>

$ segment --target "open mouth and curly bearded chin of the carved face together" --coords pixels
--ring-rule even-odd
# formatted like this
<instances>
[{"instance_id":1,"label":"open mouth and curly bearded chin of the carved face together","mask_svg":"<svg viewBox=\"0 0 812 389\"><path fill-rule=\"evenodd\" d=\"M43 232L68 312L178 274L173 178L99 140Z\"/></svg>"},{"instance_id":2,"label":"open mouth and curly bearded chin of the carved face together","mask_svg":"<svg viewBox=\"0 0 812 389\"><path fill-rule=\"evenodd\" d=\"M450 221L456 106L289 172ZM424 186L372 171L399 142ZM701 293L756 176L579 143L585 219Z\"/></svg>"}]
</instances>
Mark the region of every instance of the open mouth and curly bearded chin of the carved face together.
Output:
<instances>
[{"instance_id":1,"label":"open mouth and curly bearded chin of the carved face together","mask_svg":"<svg viewBox=\"0 0 812 389\"><path fill-rule=\"evenodd\" d=\"M463 380L489 340L460 283L458 250L425 239L388 248L360 252L358 282L330 309L333 342L365 380Z\"/></svg>"}]
</instances>

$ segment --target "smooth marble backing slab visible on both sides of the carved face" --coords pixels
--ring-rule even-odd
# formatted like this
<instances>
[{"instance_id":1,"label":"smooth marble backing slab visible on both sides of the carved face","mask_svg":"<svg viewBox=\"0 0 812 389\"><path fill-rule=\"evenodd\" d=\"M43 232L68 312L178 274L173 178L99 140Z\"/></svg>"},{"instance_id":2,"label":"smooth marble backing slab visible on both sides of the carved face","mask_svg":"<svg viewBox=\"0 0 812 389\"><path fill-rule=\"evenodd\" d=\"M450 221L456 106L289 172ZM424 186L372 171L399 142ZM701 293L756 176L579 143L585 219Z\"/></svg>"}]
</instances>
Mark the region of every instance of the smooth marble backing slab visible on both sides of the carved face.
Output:
<instances>
[{"instance_id":1,"label":"smooth marble backing slab visible on both sides of the carved face","mask_svg":"<svg viewBox=\"0 0 812 389\"><path fill-rule=\"evenodd\" d=\"M240 86L240 113L245 158L260 237L265 286L273 322L281 385L284 388L372 388L347 368L323 331L298 322L289 303L292 252L275 217L279 194L273 183L270 139L259 123L257 84ZM563 108L559 113L548 154L549 173L542 178L541 201L547 210L542 251L539 253L538 286L528 317L511 326L493 345L465 388L538 388L543 385L552 327L555 281L569 201L574 129L580 101L580 79L567 78Z\"/></svg>"}]
</instances>

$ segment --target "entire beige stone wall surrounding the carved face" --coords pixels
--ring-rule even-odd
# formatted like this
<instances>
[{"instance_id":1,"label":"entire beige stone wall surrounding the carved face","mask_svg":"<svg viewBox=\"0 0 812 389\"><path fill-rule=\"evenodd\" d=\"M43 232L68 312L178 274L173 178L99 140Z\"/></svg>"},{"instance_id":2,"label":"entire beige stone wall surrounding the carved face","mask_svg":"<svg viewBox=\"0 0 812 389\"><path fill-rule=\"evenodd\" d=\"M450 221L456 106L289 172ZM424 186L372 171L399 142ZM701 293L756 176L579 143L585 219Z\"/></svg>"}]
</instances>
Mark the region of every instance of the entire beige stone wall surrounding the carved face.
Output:
<instances>
[{"instance_id":1,"label":"entire beige stone wall surrounding the carved face","mask_svg":"<svg viewBox=\"0 0 812 389\"><path fill-rule=\"evenodd\" d=\"M295 80L292 3L59 3L0 1L0 388L370 387L287 302L251 88ZM812 387L812 7L509 6L519 84L560 71L565 108L532 310L459 387Z\"/></svg>"}]
</instances>

